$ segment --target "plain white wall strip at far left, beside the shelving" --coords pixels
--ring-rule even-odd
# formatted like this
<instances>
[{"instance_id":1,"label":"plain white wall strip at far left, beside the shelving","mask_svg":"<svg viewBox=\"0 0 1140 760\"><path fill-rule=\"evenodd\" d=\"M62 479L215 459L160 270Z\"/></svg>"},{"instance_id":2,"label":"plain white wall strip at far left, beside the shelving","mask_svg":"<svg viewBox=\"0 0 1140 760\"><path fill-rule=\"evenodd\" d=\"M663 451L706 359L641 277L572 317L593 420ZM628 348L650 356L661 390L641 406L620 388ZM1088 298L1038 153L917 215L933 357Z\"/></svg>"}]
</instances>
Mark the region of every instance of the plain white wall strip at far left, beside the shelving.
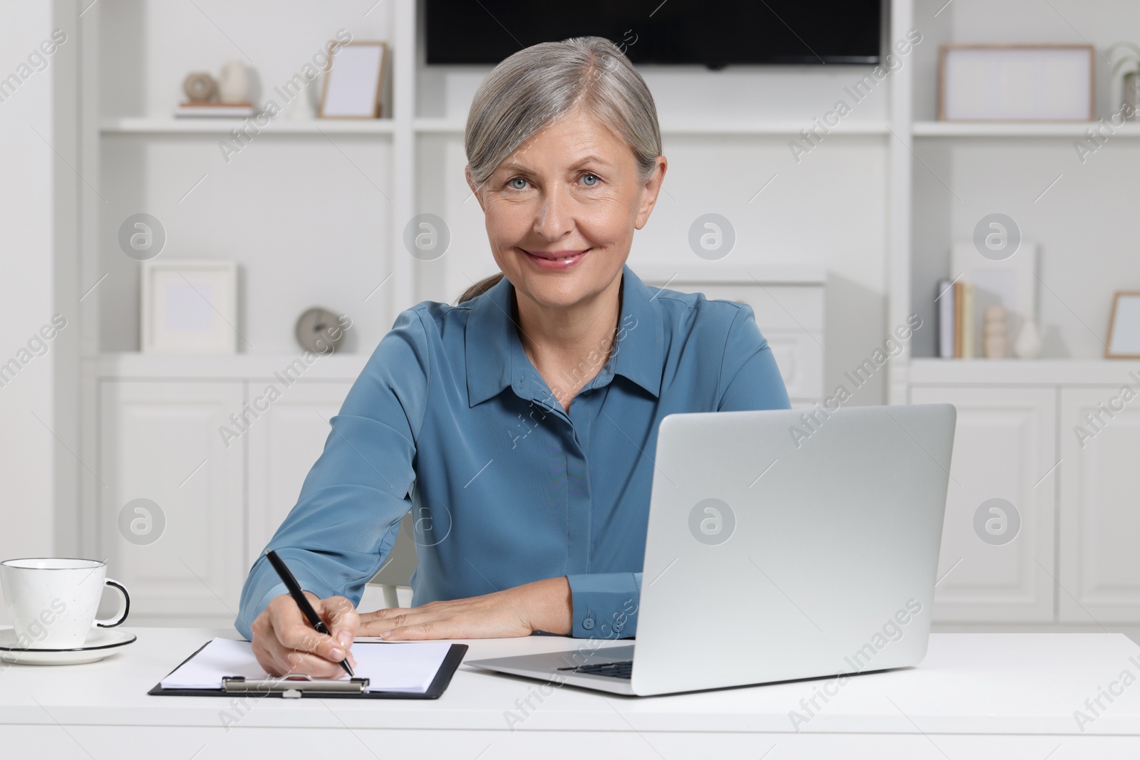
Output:
<instances>
[{"instance_id":1,"label":"plain white wall strip at far left, beside the shelving","mask_svg":"<svg viewBox=\"0 0 1140 760\"><path fill-rule=\"evenodd\" d=\"M56 276L57 258L73 255L75 239L74 224L56 223L72 221L74 212L75 175L56 153L74 163L74 122L65 122L74 119L74 28L40 57L41 43L68 15L62 3L0 3L0 365L18 365L0 375L0 558L56 553L56 506L74 504L75 386L60 384L59 374L73 367L78 303L70 293L62 297L71 276ZM66 327L41 343L39 333L56 313Z\"/></svg>"}]
</instances>

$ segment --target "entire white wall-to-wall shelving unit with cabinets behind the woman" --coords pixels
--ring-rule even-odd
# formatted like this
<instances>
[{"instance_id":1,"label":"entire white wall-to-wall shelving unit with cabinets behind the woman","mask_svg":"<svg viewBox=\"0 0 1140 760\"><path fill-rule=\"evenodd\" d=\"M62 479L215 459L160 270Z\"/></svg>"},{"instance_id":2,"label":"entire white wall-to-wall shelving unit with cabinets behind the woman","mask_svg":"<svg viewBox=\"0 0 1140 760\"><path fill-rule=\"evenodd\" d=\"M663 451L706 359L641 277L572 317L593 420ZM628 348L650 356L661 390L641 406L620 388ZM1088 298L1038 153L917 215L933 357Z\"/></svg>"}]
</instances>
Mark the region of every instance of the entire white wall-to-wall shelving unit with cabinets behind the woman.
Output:
<instances>
[{"instance_id":1,"label":"entire white wall-to-wall shelving unit with cabinets behind the woman","mask_svg":"<svg viewBox=\"0 0 1140 760\"><path fill-rule=\"evenodd\" d=\"M948 557L961 545L963 563L939 586L939 619L1081 622L1074 612L1080 605L1066 606L1051 583L1032 575L1039 572L1034 557L1067 587L1064 579L1070 579L1085 606L1119 618L1121 599L1140 600L1140 567L1134 575L1130 567L1100 567L1081 541L1062 546L1059 525L1082 530L1092 524L1080 512L1092 498L1080 490L1090 481L1080 481L1075 491L1058 490L1050 477L1064 477L1069 465L1053 475L1044 471L1069 450L1069 433L1061 425L1090 401L1076 393L1077 386L1100 392L1124 382L1121 377L1131 367L1098 359L1098 332L1107 326L1112 292L1140 285L1140 256L1121 255L1133 245L1129 190L1140 169L1140 141L1134 139L1140 125L1115 129L1105 146L1081 162L1073 145L1085 137L1089 123L934 121L940 43L1080 42L1060 15L1076 11L1066 7L1054 13L1037 0L888 5L888 42L905 39L911 30L921 32L921 42L837 126L811 138L805 131L817 130L819 120L846 97L845 88L866 81L869 67L641 70L658 104L669 171L660 207L635 236L630 265L646 281L701 287L724 297L766 299L746 291L755 291L757 280L807 288L789 291L803 301L758 307L758 313L769 307L764 319L773 321L760 327L783 341L781 351L807 344L822 352L819 366L806 368L811 382L797 386L808 389L800 402L817 395L816 389L825 394L844 383L845 371L919 314L923 327L903 342L901 356L855 389L853 402L951 400L974 426L962 440L993 444L977 456L955 455L955 461L974 468L955 471L955 476L975 485L947 513L947 536L961 544L947 545L944 554ZM1140 39L1140 7L1132 3L1092 0L1080 6L1080 15L1081 34L1098 48L1121 38ZM205 490L196 498L223 493L215 493L221 500L214 504L244 510L238 544L245 554L228 559L239 571L250 547L279 518L266 510L266 500L274 509L287 509L291 505L282 506L285 495L300 485L288 477L275 481L271 464L304 469L303 463L316 456L310 449L272 447L290 436L323 440L324 420L335 414L348 384L399 311L426 299L453 301L495 271L482 213L463 178L466 109L490 66L426 66L422 23L414 0L372 8L329 0L287 14L268 0L101 0L79 19L76 170L84 180L75 276L76 299L84 296L80 448L83 459L95 463L93 472L80 471L82 504L74 515L79 550L98 554L108 546L114 534L103 529L116 505L142 495L132 489L166 489L171 504L189 510L193 501L186 501L185 489L202 479L194 488ZM189 71L217 71L226 60L247 59L269 93L337 28L351 31L353 39L390 43L383 119L306 119L303 108L298 114L294 106L227 158L220 144L242 120L170 116ZM1102 115L1112 112L1105 91L1101 68ZM119 224L137 212L165 224L169 242L162 255L239 263L239 321L247 338L242 353L138 353L138 264L116 244ZM687 246L690 224L709 212L735 227L736 248L724 261L702 262ZM1013 216L1025 237L1040 245L1047 359L935 360L935 283L948 271L953 242L969 238L977 220L992 212ZM404 228L420 213L437 214L449 226L451 246L439 260L420 261L404 248ZM819 304L811 296L811 288L822 292L824 286L825 309L822 295ZM797 303L812 305L800 313ZM276 407L287 411L275 412L272 424L250 427L241 463L233 449L217 448L214 435L189 441L193 456L163 469L160 480L114 489L100 482L95 473L135 477L131 467L146 461L147 436L163 425L192 417L219 426L239 412L274 373L295 360L293 322L311 305L353 318L345 353L307 368L284 406ZM156 384L193 393L188 390L181 402L158 402ZM116 430L135 435L136 443L124 449ZM1131 446L1133 428L1122 424L1117 430L1101 440L1112 442L1117 435L1118 444ZM1067 456L1083 457L1083 467L1110 460L1089 464L1088 453ZM199 461L207 464L194 471ZM214 461L217 471L211 469ZM120 466L115 463L136 465L104 471ZM190 471L197 474L185 488L166 482ZM1127 488L1123 480L1110 484L1114 498ZM1025 510L1032 524L1025 530L1034 542L1015 547L1020 554L1013 559L1012 551L975 546L971 533L959 530L976 506L974 495L1002 489L1032 502ZM1073 506L1076 516L1066 512L1065 493L1083 499ZM189 514L177 513L187 520ZM1097 513L1097 524L1124 525L1124 514L1110 505ZM221 508L213 516L223 523L231 518ZM185 569L172 565L170 572L185 574ZM1112 588L1124 591L1109 593ZM192 596L198 605L193 607L196 620L215 614L219 622L228 615L210 612L217 595L214 602L201 589Z\"/></svg>"}]
</instances>

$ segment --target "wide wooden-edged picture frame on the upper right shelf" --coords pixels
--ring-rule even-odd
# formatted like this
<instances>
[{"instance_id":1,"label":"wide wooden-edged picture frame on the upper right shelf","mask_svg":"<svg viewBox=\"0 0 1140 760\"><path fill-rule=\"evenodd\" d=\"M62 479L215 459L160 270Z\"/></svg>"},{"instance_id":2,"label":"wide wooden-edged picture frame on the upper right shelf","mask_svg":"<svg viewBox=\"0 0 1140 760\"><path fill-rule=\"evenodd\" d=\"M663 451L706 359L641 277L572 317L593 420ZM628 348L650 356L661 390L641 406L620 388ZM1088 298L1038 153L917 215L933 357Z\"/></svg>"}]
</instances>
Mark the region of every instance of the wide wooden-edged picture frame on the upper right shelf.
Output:
<instances>
[{"instance_id":1,"label":"wide wooden-edged picture frame on the upper right shelf","mask_svg":"<svg viewBox=\"0 0 1140 760\"><path fill-rule=\"evenodd\" d=\"M1092 121L1090 44L944 44L938 120Z\"/></svg>"}]
</instances>

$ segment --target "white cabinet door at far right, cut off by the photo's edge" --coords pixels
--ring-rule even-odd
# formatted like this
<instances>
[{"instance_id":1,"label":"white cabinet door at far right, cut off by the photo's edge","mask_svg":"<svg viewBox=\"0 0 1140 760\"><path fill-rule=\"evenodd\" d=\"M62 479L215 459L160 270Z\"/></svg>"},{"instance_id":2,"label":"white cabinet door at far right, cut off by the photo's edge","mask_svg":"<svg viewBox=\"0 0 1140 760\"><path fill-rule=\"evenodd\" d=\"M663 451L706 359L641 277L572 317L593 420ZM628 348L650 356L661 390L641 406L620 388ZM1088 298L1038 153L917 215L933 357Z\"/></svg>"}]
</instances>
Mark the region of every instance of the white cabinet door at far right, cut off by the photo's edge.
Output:
<instances>
[{"instance_id":1,"label":"white cabinet door at far right, cut off by the photo's edge","mask_svg":"<svg viewBox=\"0 0 1140 760\"><path fill-rule=\"evenodd\" d=\"M1060 618L1140 621L1140 399L1065 389L1060 409Z\"/></svg>"}]
</instances>

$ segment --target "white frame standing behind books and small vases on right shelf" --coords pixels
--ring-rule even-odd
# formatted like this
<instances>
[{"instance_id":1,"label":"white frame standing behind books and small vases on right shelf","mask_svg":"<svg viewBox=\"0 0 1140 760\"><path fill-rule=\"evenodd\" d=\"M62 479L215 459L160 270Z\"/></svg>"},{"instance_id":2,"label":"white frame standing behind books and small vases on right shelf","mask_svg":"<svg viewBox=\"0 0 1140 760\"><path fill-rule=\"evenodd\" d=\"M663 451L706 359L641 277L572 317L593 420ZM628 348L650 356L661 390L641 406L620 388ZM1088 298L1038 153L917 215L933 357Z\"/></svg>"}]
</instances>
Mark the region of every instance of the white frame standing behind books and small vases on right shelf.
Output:
<instances>
[{"instance_id":1,"label":"white frame standing behind books and small vases on right shelf","mask_svg":"<svg viewBox=\"0 0 1140 760\"><path fill-rule=\"evenodd\" d=\"M954 244L951 279L974 284L974 345L984 344L982 329L986 307L1005 307L1010 344L1026 320L1037 320L1037 244L1021 240L1013 255L1001 261L983 256L972 240Z\"/></svg>"}]
</instances>

